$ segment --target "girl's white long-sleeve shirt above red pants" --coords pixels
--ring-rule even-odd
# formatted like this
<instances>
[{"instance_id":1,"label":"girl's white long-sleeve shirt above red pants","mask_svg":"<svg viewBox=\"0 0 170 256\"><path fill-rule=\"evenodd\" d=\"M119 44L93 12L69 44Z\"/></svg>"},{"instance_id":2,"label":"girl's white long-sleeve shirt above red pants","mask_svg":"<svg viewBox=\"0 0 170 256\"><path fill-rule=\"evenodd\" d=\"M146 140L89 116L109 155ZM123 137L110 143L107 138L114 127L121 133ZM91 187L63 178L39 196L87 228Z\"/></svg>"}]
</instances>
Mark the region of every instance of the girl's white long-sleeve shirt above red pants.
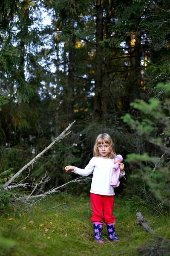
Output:
<instances>
[{"instance_id":1,"label":"girl's white long-sleeve shirt above red pants","mask_svg":"<svg viewBox=\"0 0 170 256\"><path fill-rule=\"evenodd\" d=\"M98 195L115 195L114 188L110 185L113 168L114 159L92 157L84 169L75 167L73 172L81 176L88 176L93 172L91 193Z\"/></svg>"}]
</instances>

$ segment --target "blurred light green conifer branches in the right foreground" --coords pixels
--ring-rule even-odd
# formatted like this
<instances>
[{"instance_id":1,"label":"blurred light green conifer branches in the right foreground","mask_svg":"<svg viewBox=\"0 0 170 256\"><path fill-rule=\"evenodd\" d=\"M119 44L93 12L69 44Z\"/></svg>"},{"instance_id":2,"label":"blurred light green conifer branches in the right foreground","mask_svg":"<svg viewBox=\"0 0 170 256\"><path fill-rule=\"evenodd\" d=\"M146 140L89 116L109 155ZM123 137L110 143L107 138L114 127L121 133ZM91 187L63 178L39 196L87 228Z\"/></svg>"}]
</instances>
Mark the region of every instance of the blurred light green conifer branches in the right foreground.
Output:
<instances>
[{"instance_id":1,"label":"blurred light green conifer branches in the right foreground","mask_svg":"<svg viewBox=\"0 0 170 256\"><path fill-rule=\"evenodd\" d=\"M159 150L159 154L156 153L155 156L147 152L128 154L127 162L140 166L138 173L131 177L135 179L141 176L148 186L147 189L144 188L146 192L153 193L156 200L163 203L164 206L170 207L170 163L168 158L169 142L167 141L170 131L170 86L169 84L159 84L158 87L165 88L164 102L158 99L150 99L149 103L136 100L132 106L141 111L143 118L140 117L135 121L132 116L127 114L123 120L137 133L134 136L142 136L147 143L155 146L157 152Z\"/></svg>"}]
</instances>

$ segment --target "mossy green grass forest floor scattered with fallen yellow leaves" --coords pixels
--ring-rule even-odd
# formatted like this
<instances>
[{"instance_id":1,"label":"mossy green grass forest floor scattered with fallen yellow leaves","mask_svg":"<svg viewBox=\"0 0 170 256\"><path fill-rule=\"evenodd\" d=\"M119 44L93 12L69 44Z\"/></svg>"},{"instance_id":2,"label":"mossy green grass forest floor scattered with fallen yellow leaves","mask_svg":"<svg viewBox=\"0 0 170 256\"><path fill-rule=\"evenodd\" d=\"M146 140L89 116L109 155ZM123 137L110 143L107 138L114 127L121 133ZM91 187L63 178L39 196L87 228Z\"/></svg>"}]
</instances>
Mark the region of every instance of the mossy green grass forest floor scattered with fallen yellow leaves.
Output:
<instances>
[{"instance_id":1,"label":"mossy green grass forest floor scattered with fallen yellow leaves","mask_svg":"<svg viewBox=\"0 0 170 256\"><path fill-rule=\"evenodd\" d=\"M64 205L46 210L58 204ZM11 248L0 247L0 256L170 255L168 214L153 215L141 207L144 218L155 230L147 233L137 225L135 211L130 211L123 198L115 197L115 230L121 242L110 242L104 225L105 243L98 244L93 239L91 212L89 198L65 193L43 199L29 213L8 207L6 213L0 212L0 233L15 244Z\"/></svg>"}]
</instances>

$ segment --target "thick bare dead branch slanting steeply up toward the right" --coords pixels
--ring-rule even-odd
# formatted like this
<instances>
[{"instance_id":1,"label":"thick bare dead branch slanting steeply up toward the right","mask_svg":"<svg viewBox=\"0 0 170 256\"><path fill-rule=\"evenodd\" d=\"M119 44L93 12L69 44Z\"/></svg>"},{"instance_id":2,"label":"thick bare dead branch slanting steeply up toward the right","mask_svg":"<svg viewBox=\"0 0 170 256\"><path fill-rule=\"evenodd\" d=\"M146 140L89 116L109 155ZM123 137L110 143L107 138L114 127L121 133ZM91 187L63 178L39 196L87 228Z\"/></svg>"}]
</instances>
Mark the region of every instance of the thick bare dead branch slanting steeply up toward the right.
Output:
<instances>
[{"instance_id":1,"label":"thick bare dead branch slanting steeply up toward the right","mask_svg":"<svg viewBox=\"0 0 170 256\"><path fill-rule=\"evenodd\" d=\"M9 186L10 183L12 183L12 181L18 177L26 168L28 168L29 166L33 165L33 163L40 158L46 151L49 150L49 148L51 148L55 143L60 142L64 137L66 137L66 135L68 135L71 131L69 131L70 127L75 123L72 122L71 124L69 124L69 126L57 137L55 138L55 140L47 147L45 148L41 153L37 154L37 156L35 158L33 158L29 163L27 163L25 166L23 166L23 168L20 169L20 171L18 171L14 176L12 176L11 179L9 179L4 185L3 187L5 188L6 186Z\"/></svg>"}]
</instances>

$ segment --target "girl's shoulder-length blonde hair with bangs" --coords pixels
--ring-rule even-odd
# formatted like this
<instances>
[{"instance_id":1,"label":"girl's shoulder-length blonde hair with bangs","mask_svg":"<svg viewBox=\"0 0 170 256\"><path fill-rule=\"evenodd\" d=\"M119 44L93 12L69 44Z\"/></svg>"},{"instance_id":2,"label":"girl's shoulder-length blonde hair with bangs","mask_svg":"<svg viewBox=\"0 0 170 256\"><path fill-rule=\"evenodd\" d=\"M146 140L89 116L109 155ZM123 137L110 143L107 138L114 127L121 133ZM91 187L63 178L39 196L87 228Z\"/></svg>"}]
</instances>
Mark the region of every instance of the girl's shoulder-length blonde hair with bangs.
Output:
<instances>
[{"instance_id":1,"label":"girl's shoulder-length blonde hair with bangs","mask_svg":"<svg viewBox=\"0 0 170 256\"><path fill-rule=\"evenodd\" d=\"M96 141L95 141L95 145L94 145L94 149L93 149L93 155L94 157L100 157L101 154L98 151L98 145L101 144L109 144L110 146L110 152L109 152L109 158L114 158L115 157L115 151L114 151L114 144L112 141L112 138L110 137L109 134L99 134Z\"/></svg>"}]
</instances>

